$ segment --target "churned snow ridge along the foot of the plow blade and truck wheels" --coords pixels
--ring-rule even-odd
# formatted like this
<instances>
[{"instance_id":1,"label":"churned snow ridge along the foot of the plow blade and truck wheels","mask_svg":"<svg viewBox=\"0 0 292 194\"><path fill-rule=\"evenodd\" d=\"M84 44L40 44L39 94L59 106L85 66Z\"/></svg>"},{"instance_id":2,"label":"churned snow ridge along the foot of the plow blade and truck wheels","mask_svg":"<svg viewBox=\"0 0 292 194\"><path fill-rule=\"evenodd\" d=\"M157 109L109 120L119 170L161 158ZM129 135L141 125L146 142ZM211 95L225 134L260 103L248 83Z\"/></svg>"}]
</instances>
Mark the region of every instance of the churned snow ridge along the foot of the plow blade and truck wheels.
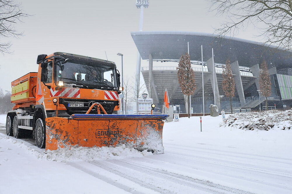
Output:
<instances>
[{"instance_id":1,"label":"churned snow ridge along the foot of the plow blade and truck wheels","mask_svg":"<svg viewBox=\"0 0 292 194\"><path fill-rule=\"evenodd\" d=\"M142 152L135 150L134 148L128 148L125 145L115 148L108 147L73 147L59 148L57 150L44 153L44 149L34 148L33 145L25 141L18 141L13 137L0 134L0 139L11 142L20 148L24 148L26 152L34 155L40 160L58 161L58 162L76 162L76 161L96 161L96 160L108 160L108 159L122 159L126 157L142 157L145 155L152 155L151 152L144 150Z\"/></svg>"}]
</instances>

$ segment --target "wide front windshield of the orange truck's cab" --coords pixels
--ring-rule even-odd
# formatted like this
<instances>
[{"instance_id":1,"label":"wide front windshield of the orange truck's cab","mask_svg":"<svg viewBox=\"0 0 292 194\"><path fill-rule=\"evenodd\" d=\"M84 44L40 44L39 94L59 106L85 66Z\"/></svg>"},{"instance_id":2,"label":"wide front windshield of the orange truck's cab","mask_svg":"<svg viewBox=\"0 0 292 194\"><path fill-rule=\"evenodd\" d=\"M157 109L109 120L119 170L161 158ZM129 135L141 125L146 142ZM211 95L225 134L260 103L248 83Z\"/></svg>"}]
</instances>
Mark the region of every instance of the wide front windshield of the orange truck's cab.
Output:
<instances>
[{"instance_id":1,"label":"wide front windshield of the orange truck's cab","mask_svg":"<svg viewBox=\"0 0 292 194\"><path fill-rule=\"evenodd\" d=\"M108 66L91 66L67 62L55 65L56 81L67 84L90 86L90 88L103 89L117 87L115 69Z\"/></svg>"}]
</instances>

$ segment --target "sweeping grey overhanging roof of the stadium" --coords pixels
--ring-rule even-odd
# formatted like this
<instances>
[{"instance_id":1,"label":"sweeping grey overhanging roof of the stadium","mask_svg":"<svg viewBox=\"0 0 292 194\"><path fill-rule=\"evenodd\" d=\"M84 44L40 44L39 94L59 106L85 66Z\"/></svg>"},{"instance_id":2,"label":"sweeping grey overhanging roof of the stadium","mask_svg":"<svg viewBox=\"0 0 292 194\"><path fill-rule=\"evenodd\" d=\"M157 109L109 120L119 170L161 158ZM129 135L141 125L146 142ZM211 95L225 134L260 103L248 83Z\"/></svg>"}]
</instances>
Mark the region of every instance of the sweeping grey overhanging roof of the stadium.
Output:
<instances>
[{"instance_id":1,"label":"sweeping grey overhanging roof of the stadium","mask_svg":"<svg viewBox=\"0 0 292 194\"><path fill-rule=\"evenodd\" d=\"M142 59L149 59L149 54L153 59L179 59L187 52L189 42L191 60L201 60L203 45L204 61L212 57L213 48L215 63L225 63L229 59L231 62L238 60L240 66L251 67L266 60L269 68L292 68L292 52L245 39L220 39L213 34L172 31L139 31L131 32L131 36Z\"/></svg>"}]
</instances>

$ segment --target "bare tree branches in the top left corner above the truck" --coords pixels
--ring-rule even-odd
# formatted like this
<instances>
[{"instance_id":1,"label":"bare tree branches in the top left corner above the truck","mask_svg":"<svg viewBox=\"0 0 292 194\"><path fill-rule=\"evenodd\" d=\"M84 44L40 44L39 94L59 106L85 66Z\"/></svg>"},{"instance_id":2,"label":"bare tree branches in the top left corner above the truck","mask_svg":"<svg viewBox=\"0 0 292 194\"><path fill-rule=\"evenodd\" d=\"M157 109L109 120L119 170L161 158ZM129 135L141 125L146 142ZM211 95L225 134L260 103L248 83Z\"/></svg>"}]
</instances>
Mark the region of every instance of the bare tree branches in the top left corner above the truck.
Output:
<instances>
[{"instance_id":1,"label":"bare tree branches in the top left corner above the truck","mask_svg":"<svg viewBox=\"0 0 292 194\"><path fill-rule=\"evenodd\" d=\"M20 8L21 4L14 0L0 0L0 38L18 37L23 32L17 32L15 24L22 22L22 18L28 16ZM0 52L11 53L11 42L0 42Z\"/></svg>"}]
</instances>

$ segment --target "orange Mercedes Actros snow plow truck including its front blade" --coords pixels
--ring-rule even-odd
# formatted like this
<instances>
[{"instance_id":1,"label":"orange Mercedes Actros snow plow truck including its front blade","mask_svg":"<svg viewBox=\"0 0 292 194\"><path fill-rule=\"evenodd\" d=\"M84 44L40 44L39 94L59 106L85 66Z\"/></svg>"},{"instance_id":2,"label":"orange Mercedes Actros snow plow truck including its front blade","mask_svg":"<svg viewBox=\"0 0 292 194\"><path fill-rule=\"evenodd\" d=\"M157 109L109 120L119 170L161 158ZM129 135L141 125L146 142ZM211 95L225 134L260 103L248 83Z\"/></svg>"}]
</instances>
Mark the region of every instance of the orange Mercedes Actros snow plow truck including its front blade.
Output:
<instances>
[{"instance_id":1,"label":"orange Mercedes Actros snow plow truck including its front blade","mask_svg":"<svg viewBox=\"0 0 292 194\"><path fill-rule=\"evenodd\" d=\"M11 82L6 134L33 137L48 150L114 147L163 153L168 115L118 115L120 74L114 62L56 52L37 57L38 72ZM102 113L102 114L101 114Z\"/></svg>"}]
</instances>

